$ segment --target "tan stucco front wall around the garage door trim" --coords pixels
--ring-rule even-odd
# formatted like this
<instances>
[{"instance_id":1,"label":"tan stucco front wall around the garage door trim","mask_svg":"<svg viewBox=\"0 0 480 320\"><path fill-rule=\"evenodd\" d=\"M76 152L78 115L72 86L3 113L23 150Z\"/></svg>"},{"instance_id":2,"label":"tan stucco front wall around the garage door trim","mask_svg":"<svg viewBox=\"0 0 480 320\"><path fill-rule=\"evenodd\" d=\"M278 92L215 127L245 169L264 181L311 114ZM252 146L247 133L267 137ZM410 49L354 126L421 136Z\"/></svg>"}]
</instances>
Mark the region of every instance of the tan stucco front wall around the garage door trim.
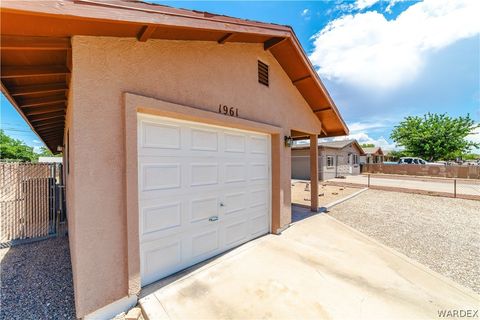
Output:
<instances>
[{"instance_id":1,"label":"tan stucco front wall around the garage door trim","mask_svg":"<svg viewBox=\"0 0 480 320\"><path fill-rule=\"evenodd\" d=\"M258 83L257 59L270 65L269 87ZM320 132L310 107L259 44L77 36L72 60L68 199L79 317L128 294L124 92L211 112L226 104L240 118L280 127L281 135ZM279 180L273 192L281 205L273 214L284 226L291 218L290 149L279 154L272 180Z\"/></svg>"}]
</instances>

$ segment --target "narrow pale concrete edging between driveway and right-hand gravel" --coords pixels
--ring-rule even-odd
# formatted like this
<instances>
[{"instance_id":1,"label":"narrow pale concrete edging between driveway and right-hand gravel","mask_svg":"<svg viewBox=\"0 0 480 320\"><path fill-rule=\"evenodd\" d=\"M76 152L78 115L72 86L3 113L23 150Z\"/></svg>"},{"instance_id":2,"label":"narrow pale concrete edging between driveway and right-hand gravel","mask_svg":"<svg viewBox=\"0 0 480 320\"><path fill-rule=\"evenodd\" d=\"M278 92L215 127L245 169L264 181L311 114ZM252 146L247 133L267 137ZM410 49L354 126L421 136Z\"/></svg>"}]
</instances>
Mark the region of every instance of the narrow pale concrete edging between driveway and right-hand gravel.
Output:
<instances>
[{"instance_id":1,"label":"narrow pale concrete edging between driveway and right-hand gravel","mask_svg":"<svg viewBox=\"0 0 480 320\"><path fill-rule=\"evenodd\" d=\"M380 246L381 248L383 248L384 250L390 252L391 254L393 254L394 256L406 261L407 263L411 264L412 266L416 267L417 269L420 269L421 271L425 272L425 273L428 273L429 275L431 275L432 277L434 278L437 278L438 280L440 281L443 281L445 283L447 283L449 286L451 286L452 288L458 290L459 292L461 292L462 294L464 295L467 295L469 296L470 298L473 298L473 299L476 299L478 301L480 301L480 295L477 294L475 291L473 291L472 289L470 288L467 288L467 287L464 287L458 283L456 283L455 281L453 281L452 279L430 269L429 267L427 267L426 265L424 264L421 264L420 262L404 255L403 253L393 249L393 248L390 248L389 246L381 243L380 241L364 234L363 232L341 222L340 220L336 219L335 217L332 217L331 215L323 215L324 218L328 218L328 219L331 219L333 220L335 223L341 225L343 228L345 229L348 229L349 231L357 234L358 236L364 238L365 240L377 245L377 246Z\"/></svg>"}]
</instances>

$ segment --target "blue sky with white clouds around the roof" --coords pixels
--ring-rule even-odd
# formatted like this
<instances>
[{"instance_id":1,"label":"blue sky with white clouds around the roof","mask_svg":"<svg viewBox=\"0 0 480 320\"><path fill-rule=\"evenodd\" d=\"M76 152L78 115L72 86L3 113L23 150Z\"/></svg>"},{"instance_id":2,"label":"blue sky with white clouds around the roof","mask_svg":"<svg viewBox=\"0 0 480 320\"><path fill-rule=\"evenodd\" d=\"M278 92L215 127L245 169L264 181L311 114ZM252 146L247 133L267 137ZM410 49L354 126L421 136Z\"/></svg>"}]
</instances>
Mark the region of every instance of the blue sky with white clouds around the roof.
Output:
<instances>
[{"instance_id":1,"label":"blue sky with white clouds around the roof","mask_svg":"<svg viewBox=\"0 0 480 320\"><path fill-rule=\"evenodd\" d=\"M292 26L360 142L394 148L391 129L407 115L480 122L480 1L155 2ZM1 105L2 128L40 146L3 96Z\"/></svg>"}]
</instances>

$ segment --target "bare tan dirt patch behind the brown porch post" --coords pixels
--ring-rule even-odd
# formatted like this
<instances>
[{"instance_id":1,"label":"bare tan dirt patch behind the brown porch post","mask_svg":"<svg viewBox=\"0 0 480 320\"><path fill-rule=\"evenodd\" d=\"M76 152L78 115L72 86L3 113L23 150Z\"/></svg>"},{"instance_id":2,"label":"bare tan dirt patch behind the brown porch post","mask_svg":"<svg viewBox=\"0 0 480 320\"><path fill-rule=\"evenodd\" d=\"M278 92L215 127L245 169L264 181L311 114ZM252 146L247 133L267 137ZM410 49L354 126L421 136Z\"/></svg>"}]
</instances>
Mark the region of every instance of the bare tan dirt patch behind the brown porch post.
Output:
<instances>
[{"instance_id":1,"label":"bare tan dirt patch behind the brown porch post","mask_svg":"<svg viewBox=\"0 0 480 320\"><path fill-rule=\"evenodd\" d=\"M320 207L340 200L361 190L353 187L331 186L320 182L318 188L318 204ZM310 181L292 180L292 203L310 206Z\"/></svg>"}]
</instances>

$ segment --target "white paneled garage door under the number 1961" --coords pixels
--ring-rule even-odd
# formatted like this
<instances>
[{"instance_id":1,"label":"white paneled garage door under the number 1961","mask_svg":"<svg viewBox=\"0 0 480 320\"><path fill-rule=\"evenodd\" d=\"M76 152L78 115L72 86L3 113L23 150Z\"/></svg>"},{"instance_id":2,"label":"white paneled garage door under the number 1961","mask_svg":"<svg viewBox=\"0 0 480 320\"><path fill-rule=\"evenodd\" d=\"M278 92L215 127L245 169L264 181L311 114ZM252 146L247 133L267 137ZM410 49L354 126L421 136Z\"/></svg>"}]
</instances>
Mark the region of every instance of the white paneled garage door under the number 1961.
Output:
<instances>
[{"instance_id":1,"label":"white paneled garage door under the number 1961","mask_svg":"<svg viewBox=\"0 0 480 320\"><path fill-rule=\"evenodd\" d=\"M146 285L268 233L270 136L138 115Z\"/></svg>"}]
</instances>

